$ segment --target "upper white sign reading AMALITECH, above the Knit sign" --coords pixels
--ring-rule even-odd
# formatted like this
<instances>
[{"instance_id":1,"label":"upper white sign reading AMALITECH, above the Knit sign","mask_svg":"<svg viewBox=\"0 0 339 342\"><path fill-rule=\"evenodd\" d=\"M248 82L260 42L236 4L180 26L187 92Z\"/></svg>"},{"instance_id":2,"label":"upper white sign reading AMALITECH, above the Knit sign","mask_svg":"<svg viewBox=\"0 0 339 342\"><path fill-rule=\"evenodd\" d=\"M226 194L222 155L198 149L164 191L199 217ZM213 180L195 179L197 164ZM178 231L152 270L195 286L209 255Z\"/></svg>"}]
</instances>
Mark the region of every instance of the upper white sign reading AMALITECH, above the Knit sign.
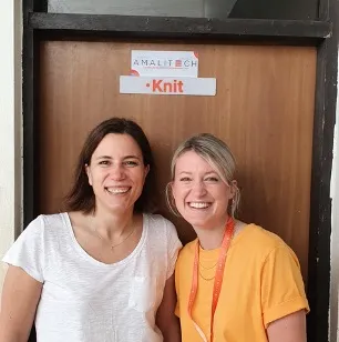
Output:
<instances>
[{"instance_id":1,"label":"upper white sign reading AMALITECH, above the Knit sign","mask_svg":"<svg viewBox=\"0 0 339 342\"><path fill-rule=\"evenodd\" d=\"M131 76L198 76L198 56L194 51L132 50Z\"/></svg>"}]
</instances>

